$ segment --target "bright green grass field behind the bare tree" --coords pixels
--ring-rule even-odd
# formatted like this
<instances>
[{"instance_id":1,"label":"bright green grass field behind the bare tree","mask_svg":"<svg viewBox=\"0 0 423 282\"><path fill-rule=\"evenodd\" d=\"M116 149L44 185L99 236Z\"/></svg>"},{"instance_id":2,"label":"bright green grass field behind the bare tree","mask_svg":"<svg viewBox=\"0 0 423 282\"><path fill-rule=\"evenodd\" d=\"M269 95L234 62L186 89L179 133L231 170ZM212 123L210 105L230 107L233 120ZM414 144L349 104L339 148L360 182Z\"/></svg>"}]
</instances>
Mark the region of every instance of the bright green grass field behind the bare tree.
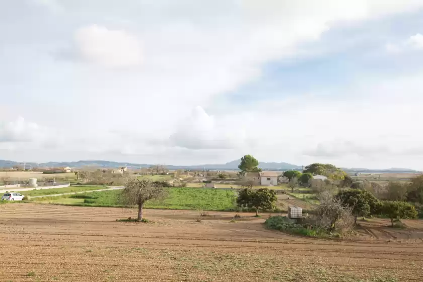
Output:
<instances>
[{"instance_id":1,"label":"bright green grass field behind the bare tree","mask_svg":"<svg viewBox=\"0 0 423 282\"><path fill-rule=\"evenodd\" d=\"M146 208L225 210L235 208L236 191L219 189L169 188L166 198L146 202ZM87 206L122 206L121 190L91 192L63 197L34 199L44 203Z\"/></svg>"}]
</instances>

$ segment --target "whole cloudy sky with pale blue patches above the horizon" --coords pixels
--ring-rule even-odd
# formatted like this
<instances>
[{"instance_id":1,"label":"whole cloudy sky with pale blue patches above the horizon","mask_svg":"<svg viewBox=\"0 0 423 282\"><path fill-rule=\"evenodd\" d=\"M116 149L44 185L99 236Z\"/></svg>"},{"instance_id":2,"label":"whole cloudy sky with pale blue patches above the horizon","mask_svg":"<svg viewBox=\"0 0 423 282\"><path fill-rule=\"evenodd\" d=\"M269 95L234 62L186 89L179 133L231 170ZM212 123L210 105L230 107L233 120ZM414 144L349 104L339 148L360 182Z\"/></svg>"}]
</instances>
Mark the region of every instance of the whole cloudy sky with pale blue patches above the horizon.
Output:
<instances>
[{"instance_id":1,"label":"whole cloudy sky with pale blue patches above the horizon","mask_svg":"<svg viewBox=\"0 0 423 282\"><path fill-rule=\"evenodd\" d=\"M0 98L0 159L423 170L423 1L0 1Z\"/></svg>"}]
</instances>

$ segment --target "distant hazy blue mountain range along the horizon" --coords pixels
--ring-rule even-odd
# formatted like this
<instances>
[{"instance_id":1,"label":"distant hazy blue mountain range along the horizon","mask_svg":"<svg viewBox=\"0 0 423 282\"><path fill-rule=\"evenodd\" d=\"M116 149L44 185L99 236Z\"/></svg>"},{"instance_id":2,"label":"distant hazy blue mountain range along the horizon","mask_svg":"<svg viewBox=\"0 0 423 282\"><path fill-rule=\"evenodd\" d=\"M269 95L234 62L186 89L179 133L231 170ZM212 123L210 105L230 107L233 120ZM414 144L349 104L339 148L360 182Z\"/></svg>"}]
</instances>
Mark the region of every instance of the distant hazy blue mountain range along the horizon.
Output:
<instances>
[{"instance_id":1,"label":"distant hazy blue mountain range along the horizon","mask_svg":"<svg viewBox=\"0 0 423 282\"><path fill-rule=\"evenodd\" d=\"M192 166L176 166L166 165L167 169L191 169L191 170L238 170L238 165L241 160L235 160L226 164L205 164L205 165L192 165ZM0 168L11 168L13 166L23 166L24 163L18 163L14 161L0 160ZM118 168L128 167L129 169L148 168L152 164L134 164L134 163L121 163L121 162L110 162L110 161L78 161L78 162L48 162L48 163L26 163L27 168L53 168L53 167L70 167L70 168L82 168L82 167L101 167L101 168ZM297 166L288 163L275 163L275 162L259 162L259 168L263 170L300 170L302 166ZM416 170L406 168L390 168L390 169L367 169L367 168L342 168L348 173L418 173Z\"/></svg>"}]
</instances>

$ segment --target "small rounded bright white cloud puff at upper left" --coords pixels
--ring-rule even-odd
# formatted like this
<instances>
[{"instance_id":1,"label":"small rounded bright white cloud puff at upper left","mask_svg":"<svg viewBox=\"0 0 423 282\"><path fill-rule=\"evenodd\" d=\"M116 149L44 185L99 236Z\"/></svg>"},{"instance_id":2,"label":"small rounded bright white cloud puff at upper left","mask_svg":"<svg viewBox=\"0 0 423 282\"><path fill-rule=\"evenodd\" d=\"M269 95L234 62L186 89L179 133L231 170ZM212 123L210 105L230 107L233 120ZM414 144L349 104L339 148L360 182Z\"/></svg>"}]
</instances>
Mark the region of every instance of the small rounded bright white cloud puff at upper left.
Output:
<instances>
[{"instance_id":1,"label":"small rounded bright white cloud puff at upper left","mask_svg":"<svg viewBox=\"0 0 423 282\"><path fill-rule=\"evenodd\" d=\"M91 25L80 28L75 40L84 59L103 66L124 67L142 62L140 42L123 30Z\"/></svg>"}]
</instances>

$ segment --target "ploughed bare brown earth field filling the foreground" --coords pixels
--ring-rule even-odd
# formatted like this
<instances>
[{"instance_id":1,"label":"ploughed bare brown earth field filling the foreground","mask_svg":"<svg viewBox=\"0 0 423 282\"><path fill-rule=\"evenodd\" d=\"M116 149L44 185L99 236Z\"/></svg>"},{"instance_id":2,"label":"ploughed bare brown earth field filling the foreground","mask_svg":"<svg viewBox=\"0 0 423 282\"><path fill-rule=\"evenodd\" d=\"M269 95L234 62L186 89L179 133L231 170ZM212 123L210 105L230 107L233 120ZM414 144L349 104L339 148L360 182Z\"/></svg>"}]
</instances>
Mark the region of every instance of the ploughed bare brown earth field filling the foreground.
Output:
<instances>
[{"instance_id":1,"label":"ploughed bare brown earth field filling the foreground","mask_svg":"<svg viewBox=\"0 0 423 282\"><path fill-rule=\"evenodd\" d=\"M195 211L0 205L0 281L422 281L423 224L360 222L363 237L266 230L262 219ZM370 233L367 233L367 231ZM374 233L374 235L372 235Z\"/></svg>"}]
</instances>

